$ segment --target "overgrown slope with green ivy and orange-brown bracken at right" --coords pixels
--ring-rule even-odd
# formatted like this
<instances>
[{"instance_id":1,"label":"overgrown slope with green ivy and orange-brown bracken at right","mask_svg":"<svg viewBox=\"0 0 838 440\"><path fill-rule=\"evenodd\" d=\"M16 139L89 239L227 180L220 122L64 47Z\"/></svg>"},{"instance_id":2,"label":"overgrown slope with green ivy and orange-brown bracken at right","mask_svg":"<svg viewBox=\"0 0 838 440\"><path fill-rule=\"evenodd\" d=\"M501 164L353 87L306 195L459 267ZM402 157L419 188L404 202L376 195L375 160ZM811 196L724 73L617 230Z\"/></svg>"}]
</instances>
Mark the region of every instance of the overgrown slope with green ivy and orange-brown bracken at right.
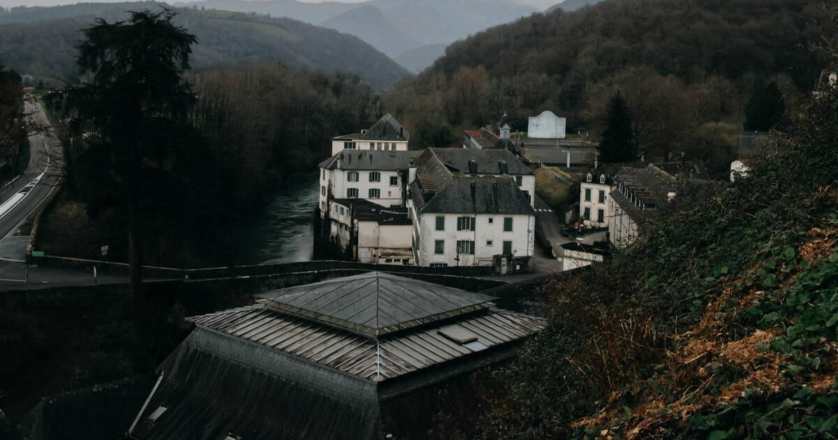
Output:
<instances>
[{"instance_id":1,"label":"overgrown slope with green ivy and orange-brown bracken at right","mask_svg":"<svg viewBox=\"0 0 838 440\"><path fill-rule=\"evenodd\" d=\"M484 436L838 436L836 122L825 96L748 179L680 190L634 246L547 283Z\"/></svg>"}]
</instances>

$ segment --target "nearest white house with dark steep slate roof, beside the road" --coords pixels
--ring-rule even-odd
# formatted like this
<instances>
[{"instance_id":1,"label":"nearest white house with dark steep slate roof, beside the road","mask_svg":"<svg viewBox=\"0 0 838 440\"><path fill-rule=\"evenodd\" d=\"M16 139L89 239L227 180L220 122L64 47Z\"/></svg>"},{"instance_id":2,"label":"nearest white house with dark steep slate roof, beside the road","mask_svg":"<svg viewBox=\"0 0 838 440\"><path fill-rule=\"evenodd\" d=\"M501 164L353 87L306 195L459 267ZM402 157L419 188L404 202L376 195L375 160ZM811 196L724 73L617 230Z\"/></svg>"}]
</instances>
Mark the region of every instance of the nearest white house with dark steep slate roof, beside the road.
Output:
<instances>
[{"instance_id":1,"label":"nearest white house with dark steep slate roof, beside the road","mask_svg":"<svg viewBox=\"0 0 838 440\"><path fill-rule=\"evenodd\" d=\"M535 212L515 179L457 173L435 152L417 159L407 201L416 264L492 266L505 258L530 267Z\"/></svg>"}]
</instances>

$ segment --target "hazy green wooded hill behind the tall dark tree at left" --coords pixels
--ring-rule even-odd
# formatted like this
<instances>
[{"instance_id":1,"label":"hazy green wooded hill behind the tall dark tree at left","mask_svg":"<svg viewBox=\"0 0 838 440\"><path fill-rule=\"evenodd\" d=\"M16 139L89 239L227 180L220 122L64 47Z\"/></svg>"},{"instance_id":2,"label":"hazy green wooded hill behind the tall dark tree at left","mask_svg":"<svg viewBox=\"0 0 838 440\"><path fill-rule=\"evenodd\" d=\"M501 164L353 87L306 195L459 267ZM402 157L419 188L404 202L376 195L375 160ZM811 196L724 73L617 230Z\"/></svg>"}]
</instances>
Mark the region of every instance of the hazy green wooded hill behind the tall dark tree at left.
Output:
<instances>
[{"instance_id":1,"label":"hazy green wooded hill behind the tall dark tree at left","mask_svg":"<svg viewBox=\"0 0 838 440\"><path fill-rule=\"evenodd\" d=\"M115 21L125 18L127 10L153 6L154 3L148 2L119 3L116 8L99 9L96 17ZM91 8L81 5L78 10ZM53 8L34 9L49 16ZM359 75L377 89L390 88L410 75L369 44L332 29L290 18L245 13L194 9L177 9L177 12L176 23L199 39L194 45L192 65L195 70L235 64L242 60L277 61L292 70ZM61 9L60 13L71 12ZM91 25L93 21L93 15L82 15L0 26L0 56L6 65L21 75L31 75L34 82L49 81L54 77L77 80L73 46L80 39L79 29Z\"/></svg>"}]
</instances>

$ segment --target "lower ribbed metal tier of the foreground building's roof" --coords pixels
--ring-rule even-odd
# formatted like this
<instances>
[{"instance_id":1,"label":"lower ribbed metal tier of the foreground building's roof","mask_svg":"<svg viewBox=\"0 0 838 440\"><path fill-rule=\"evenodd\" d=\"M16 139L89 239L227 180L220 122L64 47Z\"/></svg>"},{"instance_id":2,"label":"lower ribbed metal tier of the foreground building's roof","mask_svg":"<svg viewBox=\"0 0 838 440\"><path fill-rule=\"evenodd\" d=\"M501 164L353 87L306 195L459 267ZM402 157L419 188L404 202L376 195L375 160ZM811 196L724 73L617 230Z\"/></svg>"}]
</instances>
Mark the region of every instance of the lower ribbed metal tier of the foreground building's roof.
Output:
<instances>
[{"instance_id":1,"label":"lower ribbed metal tier of the foreground building's roof","mask_svg":"<svg viewBox=\"0 0 838 440\"><path fill-rule=\"evenodd\" d=\"M524 338L545 326L544 319L495 308L455 322L411 329L382 338L354 334L269 308L264 303L190 318L199 327L246 339L287 355L381 382L442 364L482 349ZM480 344L447 337L453 329L470 333Z\"/></svg>"}]
</instances>

